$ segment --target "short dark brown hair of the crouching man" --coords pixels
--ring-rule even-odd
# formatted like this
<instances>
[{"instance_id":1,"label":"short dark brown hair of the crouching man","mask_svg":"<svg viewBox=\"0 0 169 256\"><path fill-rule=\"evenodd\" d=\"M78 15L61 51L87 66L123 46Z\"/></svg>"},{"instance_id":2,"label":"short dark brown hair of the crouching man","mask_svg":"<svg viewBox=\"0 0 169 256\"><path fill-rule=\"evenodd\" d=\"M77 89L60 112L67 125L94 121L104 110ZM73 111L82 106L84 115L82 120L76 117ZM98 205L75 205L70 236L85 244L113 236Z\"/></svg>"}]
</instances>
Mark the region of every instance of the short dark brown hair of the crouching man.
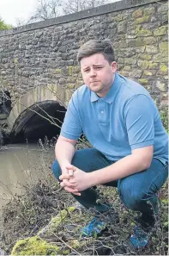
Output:
<instances>
[{"instance_id":1,"label":"short dark brown hair of the crouching man","mask_svg":"<svg viewBox=\"0 0 169 256\"><path fill-rule=\"evenodd\" d=\"M111 64L115 61L112 43L109 40L90 40L83 44L77 53L77 60L80 63L84 57L89 57L94 53L102 53L105 59Z\"/></svg>"}]
</instances>

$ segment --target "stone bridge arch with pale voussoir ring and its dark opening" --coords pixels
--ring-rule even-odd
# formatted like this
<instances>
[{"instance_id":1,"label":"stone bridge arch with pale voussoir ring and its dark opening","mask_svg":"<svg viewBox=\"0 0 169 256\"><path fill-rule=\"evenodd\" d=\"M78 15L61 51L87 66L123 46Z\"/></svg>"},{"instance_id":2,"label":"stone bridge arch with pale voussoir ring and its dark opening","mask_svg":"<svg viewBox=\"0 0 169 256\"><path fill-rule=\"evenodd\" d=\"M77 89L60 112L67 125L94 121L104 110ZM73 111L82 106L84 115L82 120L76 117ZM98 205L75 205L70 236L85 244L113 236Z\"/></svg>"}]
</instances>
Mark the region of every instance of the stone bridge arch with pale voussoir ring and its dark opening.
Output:
<instances>
[{"instance_id":1,"label":"stone bridge arch with pale voussoir ring and its dark opening","mask_svg":"<svg viewBox=\"0 0 169 256\"><path fill-rule=\"evenodd\" d=\"M71 92L61 86L37 86L23 95L10 112L11 142L58 134ZM37 137L38 139L38 137Z\"/></svg>"}]
</instances>

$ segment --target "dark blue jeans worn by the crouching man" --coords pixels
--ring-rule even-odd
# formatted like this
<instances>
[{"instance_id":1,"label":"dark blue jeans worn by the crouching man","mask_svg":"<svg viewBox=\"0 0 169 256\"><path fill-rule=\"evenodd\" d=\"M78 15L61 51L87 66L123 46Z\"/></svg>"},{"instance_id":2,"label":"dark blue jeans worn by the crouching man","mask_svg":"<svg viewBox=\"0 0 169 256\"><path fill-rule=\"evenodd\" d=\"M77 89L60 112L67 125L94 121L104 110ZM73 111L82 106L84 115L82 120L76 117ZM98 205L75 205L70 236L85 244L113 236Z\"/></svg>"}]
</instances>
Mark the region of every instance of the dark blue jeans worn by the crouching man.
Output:
<instances>
[{"instance_id":1,"label":"dark blue jeans worn by the crouching man","mask_svg":"<svg viewBox=\"0 0 169 256\"><path fill-rule=\"evenodd\" d=\"M72 159L72 165L75 165L84 172L94 172L108 165L112 165L112 160L106 157L94 148L85 148L75 151ZM61 175L60 166L57 160L52 165L52 172L57 180ZM128 209L140 211L144 222L153 222L154 212L158 211L157 191L165 183L168 175L167 165L160 162L159 159L153 159L150 167L142 172L134 173L125 178L121 178L104 185L118 187L118 195ZM75 196L75 199L86 208L94 208L99 212L105 212L110 208L109 204L96 203L98 194L95 187L81 191L81 196Z\"/></svg>"}]
</instances>

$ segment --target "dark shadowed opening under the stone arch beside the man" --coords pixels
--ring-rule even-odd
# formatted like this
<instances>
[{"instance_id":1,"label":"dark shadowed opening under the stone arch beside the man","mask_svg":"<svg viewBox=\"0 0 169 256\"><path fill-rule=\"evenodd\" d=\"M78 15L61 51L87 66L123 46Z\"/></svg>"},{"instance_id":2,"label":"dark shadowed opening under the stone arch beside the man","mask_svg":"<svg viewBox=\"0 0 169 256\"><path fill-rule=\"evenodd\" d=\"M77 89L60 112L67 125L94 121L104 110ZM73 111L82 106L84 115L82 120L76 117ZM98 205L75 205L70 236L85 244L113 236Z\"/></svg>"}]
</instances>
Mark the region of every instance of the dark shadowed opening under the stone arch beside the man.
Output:
<instances>
[{"instance_id":1,"label":"dark shadowed opening under the stone arch beside the man","mask_svg":"<svg viewBox=\"0 0 169 256\"><path fill-rule=\"evenodd\" d=\"M10 134L11 143L37 142L57 137L63 123L66 109L56 101L33 104L24 110L15 121Z\"/></svg>"}]
</instances>

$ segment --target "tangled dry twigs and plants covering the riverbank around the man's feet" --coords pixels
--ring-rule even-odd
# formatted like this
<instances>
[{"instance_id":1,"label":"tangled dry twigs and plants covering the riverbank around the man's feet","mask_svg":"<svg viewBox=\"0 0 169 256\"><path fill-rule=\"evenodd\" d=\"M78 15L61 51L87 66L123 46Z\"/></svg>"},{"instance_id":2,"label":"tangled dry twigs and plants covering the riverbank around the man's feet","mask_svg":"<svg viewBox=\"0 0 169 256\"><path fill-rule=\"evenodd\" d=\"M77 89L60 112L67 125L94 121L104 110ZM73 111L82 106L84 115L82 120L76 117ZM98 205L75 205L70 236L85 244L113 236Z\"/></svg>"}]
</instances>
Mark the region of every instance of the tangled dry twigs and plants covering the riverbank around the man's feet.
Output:
<instances>
[{"instance_id":1,"label":"tangled dry twigs and plants covering the riverbank around the man's feet","mask_svg":"<svg viewBox=\"0 0 169 256\"><path fill-rule=\"evenodd\" d=\"M166 112L163 113L162 121L166 127ZM166 127L168 128L168 127ZM81 208L75 202L74 197L59 187L51 173L54 146L45 140L41 143L42 156L36 163L30 162L27 170L27 183L22 185L23 195L13 195L13 199L3 208L3 235L0 247L11 254L17 240L35 238L43 245L41 255L53 255L52 248L59 248L55 254L72 255L166 255L168 251L168 195L167 182L159 192L160 219L156 220L151 231L150 243L142 250L134 250L128 244L128 239L135 226L136 213L126 209L120 201L117 190L114 188L99 186L100 201L112 203L113 209L109 220L109 227L99 237L81 238L80 230L94 215L92 210ZM85 147L78 144L78 148ZM50 157L49 157L50 155ZM31 172L40 172L40 179L36 182L31 178ZM54 228L45 238L37 234L51 222L51 218L68 211L66 222L61 218L59 225ZM105 216L103 216L104 218ZM41 239L45 239L45 241ZM33 240L33 241L34 241ZM30 240L29 240L30 242ZM25 243L25 241L24 241ZM46 245L47 244L47 245ZM45 251L45 245L49 248ZM40 251L39 251L40 252ZM45 253L43 253L45 252ZM30 253L30 252L29 252ZM14 253L15 254L15 253ZM21 254L21 252L20 252ZM33 254L33 251L31 251ZM39 253L40 255L40 253Z\"/></svg>"}]
</instances>

